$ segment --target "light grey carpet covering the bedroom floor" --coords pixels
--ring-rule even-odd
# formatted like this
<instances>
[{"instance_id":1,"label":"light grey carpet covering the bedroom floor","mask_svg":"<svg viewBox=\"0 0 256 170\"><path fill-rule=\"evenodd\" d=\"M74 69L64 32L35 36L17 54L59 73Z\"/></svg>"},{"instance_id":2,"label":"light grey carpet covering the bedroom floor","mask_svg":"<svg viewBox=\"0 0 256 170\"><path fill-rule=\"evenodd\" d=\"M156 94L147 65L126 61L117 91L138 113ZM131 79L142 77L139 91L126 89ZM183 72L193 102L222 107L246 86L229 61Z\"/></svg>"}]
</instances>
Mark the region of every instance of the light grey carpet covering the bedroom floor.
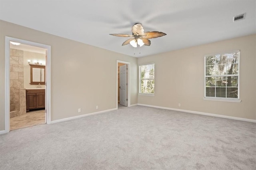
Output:
<instances>
[{"instance_id":1,"label":"light grey carpet covering the bedroom floor","mask_svg":"<svg viewBox=\"0 0 256 170\"><path fill-rule=\"evenodd\" d=\"M255 167L255 123L144 106L0 135L1 170Z\"/></svg>"}]
</instances>

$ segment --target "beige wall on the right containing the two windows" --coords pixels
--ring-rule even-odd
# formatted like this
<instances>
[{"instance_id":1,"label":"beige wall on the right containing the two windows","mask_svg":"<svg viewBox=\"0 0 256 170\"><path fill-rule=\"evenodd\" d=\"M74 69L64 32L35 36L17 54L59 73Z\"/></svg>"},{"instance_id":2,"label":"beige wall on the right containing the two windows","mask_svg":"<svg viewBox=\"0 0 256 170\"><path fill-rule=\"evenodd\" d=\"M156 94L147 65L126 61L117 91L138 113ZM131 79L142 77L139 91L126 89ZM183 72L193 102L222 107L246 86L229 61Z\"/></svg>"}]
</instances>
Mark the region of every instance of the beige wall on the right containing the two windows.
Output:
<instances>
[{"instance_id":1,"label":"beige wall on the right containing the two windows","mask_svg":"<svg viewBox=\"0 0 256 170\"><path fill-rule=\"evenodd\" d=\"M139 104L256 119L256 35L194 46L138 58L138 65L155 63L155 96L138 96ZM242 102L204 98L204 56L240 50ZM178 107L178 103L181 107Z\"/></svg>"}]
</instances>

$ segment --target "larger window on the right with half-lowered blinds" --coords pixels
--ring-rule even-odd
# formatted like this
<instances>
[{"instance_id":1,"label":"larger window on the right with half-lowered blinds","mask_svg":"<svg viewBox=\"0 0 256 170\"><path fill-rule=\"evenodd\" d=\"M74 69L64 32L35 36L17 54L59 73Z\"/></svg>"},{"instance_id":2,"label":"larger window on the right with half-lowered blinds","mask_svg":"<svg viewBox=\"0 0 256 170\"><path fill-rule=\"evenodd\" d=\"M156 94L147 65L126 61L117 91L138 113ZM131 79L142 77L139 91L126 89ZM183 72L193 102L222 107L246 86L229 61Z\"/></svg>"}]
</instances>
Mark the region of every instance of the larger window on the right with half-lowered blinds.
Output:
<instances>
[{"instance_id":1,"label":"larger window on the right with half-lowered blinds","mask_svg":"<svg viewBox=\"0 0 256 170\"><path fill-rule=\"evenodd\" d=\"M205 56L205 98L239 99L239 51Z\"/></svg>"}]
</instances>

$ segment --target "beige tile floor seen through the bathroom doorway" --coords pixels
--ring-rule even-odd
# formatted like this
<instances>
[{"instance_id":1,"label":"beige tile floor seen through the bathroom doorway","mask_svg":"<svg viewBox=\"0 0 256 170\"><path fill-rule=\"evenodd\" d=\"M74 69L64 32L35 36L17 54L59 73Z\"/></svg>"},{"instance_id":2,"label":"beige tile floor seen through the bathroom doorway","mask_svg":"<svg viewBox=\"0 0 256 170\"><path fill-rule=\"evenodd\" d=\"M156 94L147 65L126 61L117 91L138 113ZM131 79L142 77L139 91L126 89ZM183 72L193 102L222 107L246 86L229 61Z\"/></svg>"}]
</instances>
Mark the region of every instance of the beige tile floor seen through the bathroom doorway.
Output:
<instances>
[{"instance_id":1,"label":"beige tile floor seen through the bathroom doorway","mask_svg":"<svg viewBox=\"0 0 256 170\"><path fill-rule=\"evenodd\" d=\"M10 130L26 128L45 123L45 110L30 111L26 114L10 118Z\"/></svg>"}]
</instances>

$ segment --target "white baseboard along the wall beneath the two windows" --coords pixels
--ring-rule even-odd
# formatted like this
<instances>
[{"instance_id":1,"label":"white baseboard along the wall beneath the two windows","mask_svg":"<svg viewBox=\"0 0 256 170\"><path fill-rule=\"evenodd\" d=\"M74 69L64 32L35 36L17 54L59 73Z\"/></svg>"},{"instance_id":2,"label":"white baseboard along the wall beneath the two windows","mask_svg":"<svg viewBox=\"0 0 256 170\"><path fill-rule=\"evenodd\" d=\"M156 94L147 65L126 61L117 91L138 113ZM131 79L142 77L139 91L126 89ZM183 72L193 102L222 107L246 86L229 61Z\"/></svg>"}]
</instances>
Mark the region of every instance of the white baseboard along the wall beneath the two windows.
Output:
<instances>
[{"instance_id":1,"label":"white baseboard along the wall beneath the two windows","mask_svg":"<svg viewBox=\"0 0 256 170\"><path fill-rule=\"evenodd\" d=\"M228 119L242 120L242 121L246 121L246 122L254 122L254 123L256 123L256 120L253 120L253 119L245 119L245 118L238 118L238 117L233 117L233 116L224 116L224 115L220 115L220 114L196 112L196 111L191 111L191 110L182 110L182 109L175 109L175 108L166 108L166 107L153 106L153 105L147 105L147 104L138 104L138 105L139 105L139 106L152 107L152 108L160 108L160 109L166 109L166 110L175 110L175 111L180 111L180 112L187 112L187 113L194 113L194 114L202 114L202 115L206 115L206 116L214 116L214 117L219 117L219 118L228 118Z\"/></svg>"}]
</instances>

